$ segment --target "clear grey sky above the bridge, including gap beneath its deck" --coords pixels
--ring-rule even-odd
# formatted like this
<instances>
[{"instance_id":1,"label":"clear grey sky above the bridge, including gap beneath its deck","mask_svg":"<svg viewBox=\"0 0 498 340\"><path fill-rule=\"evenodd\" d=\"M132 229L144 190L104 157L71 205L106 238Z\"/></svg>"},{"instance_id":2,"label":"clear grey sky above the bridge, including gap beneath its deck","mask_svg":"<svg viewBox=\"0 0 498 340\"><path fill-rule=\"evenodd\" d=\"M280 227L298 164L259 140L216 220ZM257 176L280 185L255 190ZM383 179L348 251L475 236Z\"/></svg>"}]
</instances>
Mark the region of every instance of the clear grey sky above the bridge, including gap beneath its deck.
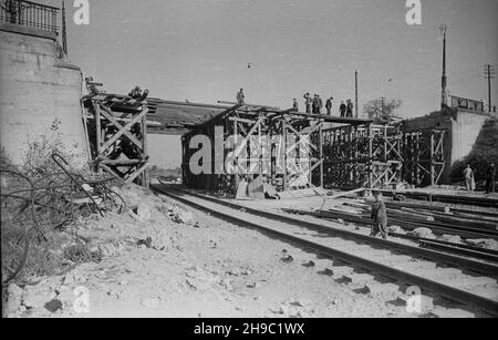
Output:
<instances>
[{"instance_id":1,"label":"clear grey sky above the bridge, including gap beneath its deck","mask_svg":"<svg viewBox=\"0 0 498 340\"><path fill-rule=\"evenodd\" d=\"M354 100L357 70L360 114L385 96L403 101L397 115L421 116L440 102L442 23L450 94L487 104L484 65L498 66L498 0L421 0L421 25L406 23L405 0L89 0L90 25L74 24L72 2L70 59L108 92L138 84L216 103L243 87L247 102L282 109L310 92L338 107ZM176 167L178 141L152 136L153 162Z\"/></svg>"}]
</instances>

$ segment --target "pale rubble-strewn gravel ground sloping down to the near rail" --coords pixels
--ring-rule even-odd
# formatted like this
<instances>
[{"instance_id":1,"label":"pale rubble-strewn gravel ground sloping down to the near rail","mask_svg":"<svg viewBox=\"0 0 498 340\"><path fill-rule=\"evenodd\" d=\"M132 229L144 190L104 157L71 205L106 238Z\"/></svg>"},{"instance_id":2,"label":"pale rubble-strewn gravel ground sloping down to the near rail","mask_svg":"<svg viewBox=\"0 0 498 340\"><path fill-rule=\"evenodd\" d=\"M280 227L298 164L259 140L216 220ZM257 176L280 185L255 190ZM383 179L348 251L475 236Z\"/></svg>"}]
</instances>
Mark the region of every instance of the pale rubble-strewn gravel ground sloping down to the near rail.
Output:
<instances>
[{"instance_id":1,"label":"pale rubble-strewn gravel ground sloping down to the near rail","mask_svg":"<svg viewBox=\"0 0 498 340\"><path fill-rule=\"evenodd\" d=\"M191 216L142 189L129 193L137 217L110 214L79 230L105 250L103 261L24 290L11 287L11 317L415 317L391 297L326 276L330 259L204 213ZM147 237L152 248L137 246ZM293 261L282 261L289 255ZM85 298L75 299L75 288L87 289L87 312L74 310Z\"/></svg>"}]
</instances>

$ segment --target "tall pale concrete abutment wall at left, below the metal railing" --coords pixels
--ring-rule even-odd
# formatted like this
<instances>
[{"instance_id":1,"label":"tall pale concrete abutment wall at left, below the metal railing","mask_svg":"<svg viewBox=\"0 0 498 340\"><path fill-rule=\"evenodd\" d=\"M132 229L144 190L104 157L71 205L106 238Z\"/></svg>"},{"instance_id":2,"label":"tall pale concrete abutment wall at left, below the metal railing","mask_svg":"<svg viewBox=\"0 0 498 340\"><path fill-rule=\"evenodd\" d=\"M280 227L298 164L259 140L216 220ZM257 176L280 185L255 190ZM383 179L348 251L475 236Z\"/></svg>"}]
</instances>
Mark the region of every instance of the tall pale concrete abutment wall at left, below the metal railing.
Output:
<instances>
[{"instance_id":1,"label":"tall pale concrete abutment wall at left, below the metal railing","mask_svg":"<svg viewBox=\"0 0 498 340\"><path fill-rule=\"evenodd\" d=\"M54 121L65 148L87 159L81 119L82 75L56 58L53 33L0 25L0 145L15 164L27 143L54 137Z\"/></svg>"}]
</instances>

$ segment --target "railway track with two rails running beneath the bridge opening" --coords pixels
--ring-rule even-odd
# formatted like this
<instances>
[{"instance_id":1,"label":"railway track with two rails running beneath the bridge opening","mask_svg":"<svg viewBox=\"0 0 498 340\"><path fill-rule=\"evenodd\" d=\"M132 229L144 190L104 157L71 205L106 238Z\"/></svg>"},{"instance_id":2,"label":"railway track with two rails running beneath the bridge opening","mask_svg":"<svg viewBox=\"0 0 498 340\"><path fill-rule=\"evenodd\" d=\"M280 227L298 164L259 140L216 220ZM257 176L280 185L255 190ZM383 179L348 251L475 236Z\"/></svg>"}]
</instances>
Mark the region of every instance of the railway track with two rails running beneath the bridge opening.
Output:
<instances>
[{"instance_id":1,"label":"railway track with two rails running beneath the bridge opening","mask_svg":"<svg viewBox=\"0 0 498 340\"><path fill-rule=\"evenodd\" d=\"M356 289L407 300L409 296L403 291L419 287L424 296L443 305L498 316L495 264L336 229L323 220L313 223L256 210L178 186L154 185L153 189L216 217L325 255L334 260L329 274Z\"/></svg>"}]
</instances>

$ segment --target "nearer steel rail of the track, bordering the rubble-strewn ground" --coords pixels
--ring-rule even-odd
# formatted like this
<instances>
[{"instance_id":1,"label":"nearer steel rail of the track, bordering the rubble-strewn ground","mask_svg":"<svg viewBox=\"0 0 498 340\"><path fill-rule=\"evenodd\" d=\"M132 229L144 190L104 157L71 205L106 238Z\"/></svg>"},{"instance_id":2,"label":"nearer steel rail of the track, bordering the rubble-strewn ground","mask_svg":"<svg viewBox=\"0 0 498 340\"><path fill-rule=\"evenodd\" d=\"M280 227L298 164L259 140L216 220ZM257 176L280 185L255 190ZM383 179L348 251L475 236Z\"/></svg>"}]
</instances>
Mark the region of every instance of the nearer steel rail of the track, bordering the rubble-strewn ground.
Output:
<instances>
[{"instance_id":1,"label":"nearer steel rail of the track, bordering the rubble-strewn ground","mask_svg":"<svg viewBox=\"0 0 498 340\"><path fill-rule=\"evenodd\" d=\"M426 290L428 290L428 291L430 291L433 293L436 293L436 295L449 298L450 300L458 301L458 302L464 303L466 306L470 306L470 307L480 309L480 310L486 311L488 313L491 313L494 316L498 315L498 302L495 301L495 300L490 300L490 299L487 299L485 297L471 293L471 292L466 291L466 290L461 290L461 289L458 289L458 288L455 288L455 287L446 286L444 284L440 284L440 282L437 282L437 281L434 281L434 280L430 280L430 279L427 279L427 278L423 278L423 277L419 277L419 276L416 276L416 275L413 275L413 274L409 274L409 272L406 272L406 271L403 271L403 270L400 270L400 269L395 269L395 268L388 267L386 265L378 264L378 262L372 261L370 259L352 255L350 253L336 250L336 249L330 248L328 246L310 241L310 240L304 239L304 238L299 237L299 236L290 235L290 234L287 234L287 233L283 233L283 231L278 231L276 229L262 226L260 224L242 219L241 217L238 217L237 214L234 214L234 213L237 213L237 212L231 212L231 214L230 214L228 212L222 212L222 209L209 208L206 204L196 203L193 199L188 199L186 197L183 197L183 195L184 196L185 195L189 195L189 196L191 196L194 198L201 199L201 200L205 200L205 202L210 202L211 204L217 204L217 205L220 205L220 206L225 206L225 207L228 207L230 209L240 210L240 206L239 206L239 208L229 207L229 206L227 206L225 204L218 203L216 198L215 199L210 199L210 197L203 197L204 195L198 195L198 194L194 194L194 193L181 190L181 189L177 189L177 188L173 188L173 190L176 190L176 192L180 193L179 195L178 194L173 194L170 190L165 190L165 189L158 188L158 187L156 187L154 185L151 186L151 187L153 189L155 189L156 192L160 193L160 194L169 196L169 197L172 197L172 198L174 198L176 200L179 200L179 202L181 202L181 203L184 203L186 205L189 205L189 206L191 206L191 207L194 207L196 209L199 209L199 210L203 210L203 212L208 212L209 214L211 214L214 216L221 217L221 218L225 218L225 219L228 219L228 220L232 220L232 221L235 221L237 224L250 226L250 227L252 227L255 229L259 229L259 230L266 231L266 233L268 233L270 235L274 235L274 236L277 236L280 239L286 239L286 240L289 240L289 241L292 241L292 243L305 246L307 248L314 249L314 250L319 251L320 254L328 255L329 257L339 258L339 259L341 259L343 261L346 261L349 264L354 264L354 265L367 268L370 270L383 274L384 276L393 278L393 279L395 279L397 281L401 281L403 284L409 284L409 285L415 285L415 286L418 286L418 287L423 287L424 289L426 289ZM260 210L257 210L258 214L255 214L255 213L251 213L250 210L252 210L252 209L248 208L248 209L245 210L245 213L249 213L249 214L252 214L252 215L261 215L259 213L262 213ZM274 219L272 217L268 217L268 218L269 219ZM295 223L295 220L294 220L294 223ZM302 221L302 224L305 224L305 223Z\"/></svg>"}]
</instances>

